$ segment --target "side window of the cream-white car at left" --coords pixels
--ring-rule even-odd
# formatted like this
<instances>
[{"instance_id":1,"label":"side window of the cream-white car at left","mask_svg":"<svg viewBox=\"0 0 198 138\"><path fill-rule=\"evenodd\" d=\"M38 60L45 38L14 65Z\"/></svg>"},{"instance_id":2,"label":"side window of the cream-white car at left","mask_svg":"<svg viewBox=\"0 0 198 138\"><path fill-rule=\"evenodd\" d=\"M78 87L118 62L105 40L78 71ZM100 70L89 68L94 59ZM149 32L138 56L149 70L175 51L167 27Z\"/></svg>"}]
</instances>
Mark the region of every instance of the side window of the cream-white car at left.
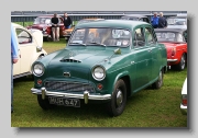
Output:
<instances>
[{"instance_id":1,"label":"side window of the cream-white car at left","mask_svg":"<svg viewBox=\"0 0 198 138\"><path fill-rule=\"evenodd\" d=\"M19 44L32 43L32 37L26 31L24 31L22 28L16 28L15 31L16 31Z\"/></svg>"}]
</instances>

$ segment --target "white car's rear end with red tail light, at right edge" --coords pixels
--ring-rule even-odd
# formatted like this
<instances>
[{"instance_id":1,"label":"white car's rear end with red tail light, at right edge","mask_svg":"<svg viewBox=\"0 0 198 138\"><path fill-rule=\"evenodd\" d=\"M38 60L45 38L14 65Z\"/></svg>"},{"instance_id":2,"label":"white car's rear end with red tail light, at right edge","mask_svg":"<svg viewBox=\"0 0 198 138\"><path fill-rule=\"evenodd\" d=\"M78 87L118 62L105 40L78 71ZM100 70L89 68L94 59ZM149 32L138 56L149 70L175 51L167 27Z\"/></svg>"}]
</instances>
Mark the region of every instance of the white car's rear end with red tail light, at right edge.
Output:
<instances>
[{"instance_id":1,"label":"white car's rear end with red tail light, at right edge","mask_svg":"<svg viewBox=\"0 0 198 138\"><path fill-rule=\"evenodd\" d=\"M187 78L184 81L182 89L182 102L180 102L180 112L184 115L187 115Z\"/></svg>"}]
</instances>

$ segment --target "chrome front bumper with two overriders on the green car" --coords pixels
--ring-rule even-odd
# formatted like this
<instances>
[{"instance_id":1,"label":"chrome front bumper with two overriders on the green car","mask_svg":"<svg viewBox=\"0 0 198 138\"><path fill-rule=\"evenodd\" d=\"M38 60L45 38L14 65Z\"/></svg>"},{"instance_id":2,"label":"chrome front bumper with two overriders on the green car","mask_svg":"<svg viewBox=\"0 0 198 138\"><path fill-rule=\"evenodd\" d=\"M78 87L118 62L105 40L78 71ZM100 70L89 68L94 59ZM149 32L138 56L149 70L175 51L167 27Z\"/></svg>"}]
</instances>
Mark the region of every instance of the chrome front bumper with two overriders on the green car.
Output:
<instances>
[{"instance_id":1,"label":"chrome front bumper with two overriders on the green car","mask_svg":"<svg viewBox=\"0 0 198 138\"><path fill-rule=\"evenodd\" d=\"M45 100L46 96L59 96L59 97L72 97L72 99L82 99L85 100L85 104L88 103L88 100L110 100L111 94L105 94L105 95L96 95L90 94L89 91L84 91L84 94L73 94L73 93L63 93L63 92L52 92L47 91L45 88L41 89L31 89L32 94L42 94L42 99Z\"/></svg>"}]
</instances>

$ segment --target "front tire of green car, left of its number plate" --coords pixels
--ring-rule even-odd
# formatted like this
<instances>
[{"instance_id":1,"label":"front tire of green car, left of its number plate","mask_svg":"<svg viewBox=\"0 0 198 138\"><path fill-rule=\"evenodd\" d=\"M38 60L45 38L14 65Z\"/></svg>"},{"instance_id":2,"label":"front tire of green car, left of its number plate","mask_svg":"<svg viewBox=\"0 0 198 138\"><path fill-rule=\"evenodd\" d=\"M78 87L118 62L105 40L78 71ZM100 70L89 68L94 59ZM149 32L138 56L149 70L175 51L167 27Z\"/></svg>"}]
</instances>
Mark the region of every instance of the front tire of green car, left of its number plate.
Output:
<instances>
[{"instance_id":1,"label":"front tire of green car, left of its number plate","mask_svg":"<svg viewBox=\"0 0 198 138\"><path fill-rule=\"evenodd\" d=\"M51 110L53 107L53 105L50 104L48 99L43 100L41 94L37 95L37 103L44 111Z\"/></svg>"}]
</instances>

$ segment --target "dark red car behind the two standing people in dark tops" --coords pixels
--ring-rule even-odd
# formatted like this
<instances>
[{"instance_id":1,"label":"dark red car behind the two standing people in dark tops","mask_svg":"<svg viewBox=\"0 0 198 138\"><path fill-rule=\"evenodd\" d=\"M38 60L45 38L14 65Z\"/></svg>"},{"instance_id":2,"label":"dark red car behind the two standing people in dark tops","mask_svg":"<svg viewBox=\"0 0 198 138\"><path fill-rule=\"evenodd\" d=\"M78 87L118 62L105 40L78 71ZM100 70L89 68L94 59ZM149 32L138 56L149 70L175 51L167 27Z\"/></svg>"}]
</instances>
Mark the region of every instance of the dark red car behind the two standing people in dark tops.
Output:
<instances>
[{"instance_id":1,"label":"dark red car behind the two standing people in dark tops","mask_svg":"<svg viewBox=\"0 0 198 138\"><path fill-rule=\"evenodd\" d=\"M43 37L45 41L52 41L52 25L51 25L51 19L53 15L40 15L36 19L34 19L33 25L28 26L28 28L37 28L43 32ZM61 21L61 26L59 26L59 37L65 37L65 26L63 23L63 18L58 16Z\"/></svg>"}]
</instances>

